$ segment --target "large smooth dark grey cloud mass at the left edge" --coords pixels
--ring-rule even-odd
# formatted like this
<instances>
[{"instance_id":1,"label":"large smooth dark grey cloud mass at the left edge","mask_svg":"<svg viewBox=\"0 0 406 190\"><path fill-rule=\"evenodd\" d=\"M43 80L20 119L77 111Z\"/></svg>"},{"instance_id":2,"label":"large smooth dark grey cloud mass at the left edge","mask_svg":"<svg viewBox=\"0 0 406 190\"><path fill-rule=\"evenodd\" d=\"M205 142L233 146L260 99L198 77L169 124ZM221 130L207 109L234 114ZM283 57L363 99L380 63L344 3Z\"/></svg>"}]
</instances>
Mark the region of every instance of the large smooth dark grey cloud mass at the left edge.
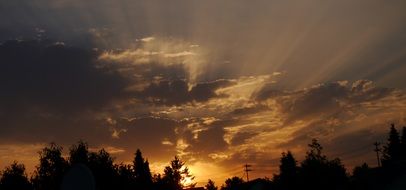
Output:
<instances>
[{"instance_id":1,"label":"large smooth dark grey cloud mass at the left edge","mask_svg":"<svg viewBox=\"0 0 406 190\"><path fill-rule=\"evenodd\" d=\"M49 41L0 45L0 104L6 112L100 109L124 96L128 81L97 65L97 53Z\"/></svg>"}]
</instances>

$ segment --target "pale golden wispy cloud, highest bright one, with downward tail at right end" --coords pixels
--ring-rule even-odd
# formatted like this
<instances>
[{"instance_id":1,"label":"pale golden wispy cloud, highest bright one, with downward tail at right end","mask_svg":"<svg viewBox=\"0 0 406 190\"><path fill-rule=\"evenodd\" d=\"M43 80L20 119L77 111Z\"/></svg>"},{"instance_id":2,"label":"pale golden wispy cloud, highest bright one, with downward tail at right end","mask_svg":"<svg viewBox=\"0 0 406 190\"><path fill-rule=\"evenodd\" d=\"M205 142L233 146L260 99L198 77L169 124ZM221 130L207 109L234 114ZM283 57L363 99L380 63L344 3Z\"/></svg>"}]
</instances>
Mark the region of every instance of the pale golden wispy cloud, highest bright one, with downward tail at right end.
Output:
<instances>
[{"instance_id":1,"label":"pale golden wispy cloud, highest bright one, with downward tail at right end","mask_svg":"<svg viewBox=\"0 0 406 190\"><path fill-rule=\"evenodd\" d=\"M181 66L188 73L185 79L191 83L197 81L207 64L203 48L188 42L163 37L147 37L141 42L132 44L132 48L105 51L99 59L127 67L148 67L151 64L161 67Z\"/></svg>"}]
</instances>

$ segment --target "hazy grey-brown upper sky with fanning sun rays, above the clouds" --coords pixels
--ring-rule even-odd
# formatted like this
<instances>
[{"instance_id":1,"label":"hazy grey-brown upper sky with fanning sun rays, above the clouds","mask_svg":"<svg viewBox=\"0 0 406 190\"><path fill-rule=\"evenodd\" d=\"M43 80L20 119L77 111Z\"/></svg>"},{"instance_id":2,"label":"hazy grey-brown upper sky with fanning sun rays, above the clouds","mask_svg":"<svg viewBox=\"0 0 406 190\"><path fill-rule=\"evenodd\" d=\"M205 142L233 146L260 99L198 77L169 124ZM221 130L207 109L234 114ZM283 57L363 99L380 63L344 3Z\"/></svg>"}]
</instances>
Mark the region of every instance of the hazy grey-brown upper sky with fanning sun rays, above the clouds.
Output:
<instances>
[{"instance_id":1,"label":"hazy grey-brown upper sky with fanning sun rays, above the clouds","mask_svg":"<svg viewBox=\"0 0 406 190\"><path fill-rule=\"evenodd\" d=\"M39 28L63 41L80 45L89 41L98 48L115 49L146 36L170 36L213 50L207 74L201 75L205 80L287 71L288 80L282 82L291 87L357 80L360 75L404 87L403 73L397 71L405 69L405 2L381 3L3 1L0 40L32 37ZM93 37L83 37L88 33Z\"/></svg>"}]
</instances>

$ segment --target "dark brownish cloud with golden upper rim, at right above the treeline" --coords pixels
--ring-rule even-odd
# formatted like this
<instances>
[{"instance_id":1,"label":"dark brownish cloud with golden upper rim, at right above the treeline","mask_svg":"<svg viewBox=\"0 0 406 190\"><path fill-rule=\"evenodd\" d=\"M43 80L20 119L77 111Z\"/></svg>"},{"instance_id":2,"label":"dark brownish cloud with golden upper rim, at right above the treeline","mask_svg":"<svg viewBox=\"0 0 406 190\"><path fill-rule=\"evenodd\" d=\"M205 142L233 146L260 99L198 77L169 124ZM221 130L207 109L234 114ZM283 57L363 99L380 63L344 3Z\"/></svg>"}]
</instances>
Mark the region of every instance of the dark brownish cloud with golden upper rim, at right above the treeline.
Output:
<instances>
[{"instance_id":1,"label":"dark brownish cloud with golden upper rim, at right above the treeline","mask_svg":"<svg viewBox=\"0 0 406 190\"><path fill-rule=\"evenodd\" d=\"M262 101L268 98L278 100L281 111L287 115L287 123L321 116L334 116L361 103L372 102L390 96L394 89L376 87L372 81L358 80L315 85L297 91L273 90L265 86L254 96Z\"/></svg>"}]
</instances>

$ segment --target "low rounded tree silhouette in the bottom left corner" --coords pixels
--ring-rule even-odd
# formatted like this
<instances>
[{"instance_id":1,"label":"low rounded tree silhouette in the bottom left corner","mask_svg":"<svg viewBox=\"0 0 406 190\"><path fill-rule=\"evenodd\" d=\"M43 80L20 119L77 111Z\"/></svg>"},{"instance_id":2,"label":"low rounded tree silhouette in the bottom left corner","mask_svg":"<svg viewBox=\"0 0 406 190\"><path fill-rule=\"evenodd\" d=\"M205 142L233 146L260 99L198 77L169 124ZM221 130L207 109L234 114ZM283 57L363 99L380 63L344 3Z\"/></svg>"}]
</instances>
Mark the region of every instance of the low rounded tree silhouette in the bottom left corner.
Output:
<instances>
[{"instance_id":1,"label":"low rounded tree silhouette in the bottom left corner","mask_svg":"<svg viewBox=\"0 0 406 190\"><path fill-rule=\"evenodd\" d=\"M1 172L1 190L31 190L32 185L25 173L25 166L16 161Z\"/></svg>"}]
</instances>

